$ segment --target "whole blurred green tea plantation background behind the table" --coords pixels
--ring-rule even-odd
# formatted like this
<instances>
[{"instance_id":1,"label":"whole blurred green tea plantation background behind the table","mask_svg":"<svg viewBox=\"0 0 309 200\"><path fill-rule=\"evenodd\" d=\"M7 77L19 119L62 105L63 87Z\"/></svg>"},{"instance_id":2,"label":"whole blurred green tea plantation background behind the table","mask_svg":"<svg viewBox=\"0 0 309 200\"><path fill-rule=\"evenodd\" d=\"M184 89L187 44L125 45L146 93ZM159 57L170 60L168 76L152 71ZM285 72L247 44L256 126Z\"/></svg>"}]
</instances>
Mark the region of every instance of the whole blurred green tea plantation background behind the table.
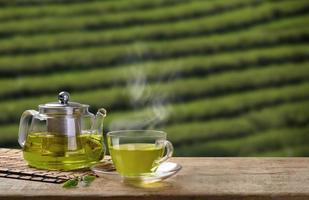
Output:
<instances>
[{"instance_id":1,"label":"whole blurred green tea plantation background behind the table","mask_svg":"<svg viewBox=\"0 0 309 200\"><path fill-rule=\"evenodd\" d=\"M177 156L308 156L309 1L0 0L0 146L62 90Z\"/></svg>"}]
</instances>

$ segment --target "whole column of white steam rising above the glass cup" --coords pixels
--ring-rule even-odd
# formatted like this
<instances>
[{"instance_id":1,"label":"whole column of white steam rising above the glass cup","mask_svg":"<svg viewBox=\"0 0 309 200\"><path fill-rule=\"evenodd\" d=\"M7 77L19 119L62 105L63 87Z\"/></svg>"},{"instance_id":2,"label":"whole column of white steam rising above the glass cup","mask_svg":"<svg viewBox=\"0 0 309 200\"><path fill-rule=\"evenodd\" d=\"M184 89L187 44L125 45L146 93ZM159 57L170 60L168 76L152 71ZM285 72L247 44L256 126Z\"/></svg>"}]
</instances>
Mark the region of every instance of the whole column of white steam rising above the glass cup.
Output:
<instances>
[{"instance_id":1,"label":"whole column of white steam rising above the glass cup","mask_svg":"<svg viewBox=\"0 0 309 200\"><path fill-rule=\"evenodd\" d=\"M134 57L128 58L135 61L142 59L142 52L147 52L147 46L142 43L136 43L133 47L135 53ZM130 49L132 53L132 48ZM160 93L162 89L162 78L165 83L173 79L173 75L169 77L158 77L156 80L151 81L151 87L148 83L147 74L150 71L147 64L144 66L137 65L131 66L129 69L130 78L127 80L126 92L128 93L130 104L130 115L120 116L109 124L109 130L123 130L123 129L154 129L167 121L170 113L168 108L168 98L166 95ZM176 74L174 74L176 75ZM167 79L167 80L166 80ZM142 112L141 110L145 111ZM133 113L131 115L131 113ZM137 114L139 113L139 114Z\"/></svg>"}]
</instances>

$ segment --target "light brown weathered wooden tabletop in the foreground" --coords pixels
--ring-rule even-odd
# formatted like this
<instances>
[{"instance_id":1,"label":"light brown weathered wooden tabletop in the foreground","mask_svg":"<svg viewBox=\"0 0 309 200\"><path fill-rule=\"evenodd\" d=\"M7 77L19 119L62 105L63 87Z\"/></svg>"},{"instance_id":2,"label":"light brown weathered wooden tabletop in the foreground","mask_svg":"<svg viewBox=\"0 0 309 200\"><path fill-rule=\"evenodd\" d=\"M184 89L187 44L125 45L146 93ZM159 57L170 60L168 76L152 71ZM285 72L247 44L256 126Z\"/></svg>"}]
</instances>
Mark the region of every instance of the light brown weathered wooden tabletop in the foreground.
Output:
<instances>
[{"instance_id":1,"label":"light brown weathered wooden tabletop in the foreground","mask_svg":"<svg viewBox=\"0 0 309 200\"><path fill-rule=\"evenodd\" d=\"M89 187L0 179L0 199L309 199L309 158L173 158L183 169L136 188L106 178Z\"/></svg>"}]
</instances>

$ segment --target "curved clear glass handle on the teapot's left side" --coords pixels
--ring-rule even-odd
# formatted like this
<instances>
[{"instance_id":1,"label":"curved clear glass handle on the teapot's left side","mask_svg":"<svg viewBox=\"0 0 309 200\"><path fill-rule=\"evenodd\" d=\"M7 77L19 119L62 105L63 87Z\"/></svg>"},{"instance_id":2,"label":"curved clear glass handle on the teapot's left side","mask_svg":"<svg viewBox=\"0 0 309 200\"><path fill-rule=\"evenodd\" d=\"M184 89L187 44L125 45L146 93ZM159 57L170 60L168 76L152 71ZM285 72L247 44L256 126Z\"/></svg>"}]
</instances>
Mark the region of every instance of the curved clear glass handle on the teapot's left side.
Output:
<instances>
[{"instance_id":1,"label":"curved clear glass handle on the teapot's left side","mask_svg":"<svg viewBox=\"0 0 309 200\"><path fill-rule=\"evenodd\" d=\"M26 110L21 115L19 123L19 131L18 131L18 143L21 147L24 147L25 145L25 141L29 130L29 122L32 119L32 117L38 113L39 112L36 110Z\"/></svg>"}]
</instances>

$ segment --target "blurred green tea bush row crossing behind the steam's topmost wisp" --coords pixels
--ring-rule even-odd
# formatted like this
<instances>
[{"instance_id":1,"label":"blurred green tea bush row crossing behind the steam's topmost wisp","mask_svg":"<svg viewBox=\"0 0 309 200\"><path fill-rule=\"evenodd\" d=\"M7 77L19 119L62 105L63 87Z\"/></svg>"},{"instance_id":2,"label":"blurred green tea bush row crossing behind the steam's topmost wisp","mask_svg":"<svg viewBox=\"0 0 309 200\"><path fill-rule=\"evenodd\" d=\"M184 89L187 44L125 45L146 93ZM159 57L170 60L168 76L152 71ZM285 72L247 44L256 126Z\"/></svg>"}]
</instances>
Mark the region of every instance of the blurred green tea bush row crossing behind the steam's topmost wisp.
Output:
<instances>
[{"instance_id":1,"label":"blurred green tea bush row crossing behind the steam's topmost wisp","mask_svg":"<svg viewBox=\"0 0 309 200\"><path fill-rule=\"evenodd\" d=\"M218 40L217 44L209 44L208 37L171 40L168 42L147 42L141 45L125 44L107 47L88 47L74 50L59 50L31 55L0 57L0 72L3 75L16 73L39 73L65 69L89 69L102 65L115 65L141 62L152 59L167 59L171 57L192 54L215 54L229 50L250 49L255 46L270 46L277 43L302 43L308 38L309 30L273 33L274 37L264 34L265 38L255 40ZM305 37L305 38L304 38ZM261 40L259 40L261 38ZM242 39L240 37L240 39ZM229 41L229 42L226 42ZM165 46L167 45L167 46ZM128 51L132 49L132 51ZM134 50L137 49L137 50ZM104 55L104 56L102 56ZM29 68L31 65L31 68Z\"/></svg>"}]
</instances>

